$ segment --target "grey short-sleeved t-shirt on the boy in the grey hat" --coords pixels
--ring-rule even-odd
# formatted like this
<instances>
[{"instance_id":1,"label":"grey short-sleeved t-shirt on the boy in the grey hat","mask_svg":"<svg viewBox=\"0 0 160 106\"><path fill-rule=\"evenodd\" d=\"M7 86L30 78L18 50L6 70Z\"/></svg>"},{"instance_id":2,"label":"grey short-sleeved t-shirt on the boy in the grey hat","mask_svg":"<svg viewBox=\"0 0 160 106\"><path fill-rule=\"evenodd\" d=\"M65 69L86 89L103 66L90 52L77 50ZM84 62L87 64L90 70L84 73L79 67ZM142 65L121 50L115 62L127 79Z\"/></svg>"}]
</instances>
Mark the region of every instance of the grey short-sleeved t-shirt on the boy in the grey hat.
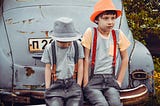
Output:
<instances>
[{"instance_id":1,"label":"grey short-sleeved t-shirt on the boy in the grey hat","mask_svg":"<svg viewBox=\"0 0 160 106\"><path fill-rule=\"evenodd\" d=\"M77 41L78 50L79 50L79 59L84 58L84 51L80 41ZM72 77L74 73L74 56L75 56L75 48L72 42L72 45L68 48L60 48L57 46L55 42L56 49L56 76L58 79L66 79ZM45 64L49 63L51 66L53 65L53 57L52 57L52 48L51 44L47 45L41 61Z\"/></svg>"}]
</instances>

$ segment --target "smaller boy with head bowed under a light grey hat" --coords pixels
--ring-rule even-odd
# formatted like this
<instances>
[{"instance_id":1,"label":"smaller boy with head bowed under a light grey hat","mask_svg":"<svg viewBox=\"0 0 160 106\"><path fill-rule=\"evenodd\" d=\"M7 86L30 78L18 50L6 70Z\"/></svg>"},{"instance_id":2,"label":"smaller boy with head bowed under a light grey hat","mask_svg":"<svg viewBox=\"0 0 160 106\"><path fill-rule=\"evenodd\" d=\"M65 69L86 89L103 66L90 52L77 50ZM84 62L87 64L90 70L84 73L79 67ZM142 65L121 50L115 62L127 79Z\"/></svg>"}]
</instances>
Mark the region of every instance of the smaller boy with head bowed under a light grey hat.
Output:
<instances>
[{"instance_id":1,"label":"smaller boy with head bowed under a light grey hat","mask_svg":"<svg viewBox=\"0 0 160 106\"><path fill-rule=\"evenodd\" d=\"M46 46L41 61L45 66L47 106L81 106L84 52L71 18L61 17L51 32L53 42Z\"/></svg>"}]
</instances>

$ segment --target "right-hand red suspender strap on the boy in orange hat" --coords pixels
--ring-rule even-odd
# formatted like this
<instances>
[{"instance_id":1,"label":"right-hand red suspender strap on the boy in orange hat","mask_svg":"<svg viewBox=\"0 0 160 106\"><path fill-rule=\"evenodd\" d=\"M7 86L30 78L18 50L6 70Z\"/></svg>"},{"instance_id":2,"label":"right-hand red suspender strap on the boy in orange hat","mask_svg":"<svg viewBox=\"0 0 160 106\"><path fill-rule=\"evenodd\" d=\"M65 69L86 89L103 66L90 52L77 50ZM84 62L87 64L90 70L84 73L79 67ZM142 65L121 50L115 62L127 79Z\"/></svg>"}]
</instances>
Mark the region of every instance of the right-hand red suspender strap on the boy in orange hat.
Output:
<instances>
[{"instance_id":1,"label":"right-hand red suspender strap on the boy in orange hat","mask_svg":"<svg viewBox=\"0 0 160 106\"><path fill-rule=\"evenodd\" d=\"M115 75L115 67L116 67L116 43L117 43L117 38L116 38L116 33L115 30L112 30L112 38L113 38L113 43L114 43L114 48L113 48L113 62L112 62L112 67L113 67L113 75Z\"/></svg>"}]
</instances>

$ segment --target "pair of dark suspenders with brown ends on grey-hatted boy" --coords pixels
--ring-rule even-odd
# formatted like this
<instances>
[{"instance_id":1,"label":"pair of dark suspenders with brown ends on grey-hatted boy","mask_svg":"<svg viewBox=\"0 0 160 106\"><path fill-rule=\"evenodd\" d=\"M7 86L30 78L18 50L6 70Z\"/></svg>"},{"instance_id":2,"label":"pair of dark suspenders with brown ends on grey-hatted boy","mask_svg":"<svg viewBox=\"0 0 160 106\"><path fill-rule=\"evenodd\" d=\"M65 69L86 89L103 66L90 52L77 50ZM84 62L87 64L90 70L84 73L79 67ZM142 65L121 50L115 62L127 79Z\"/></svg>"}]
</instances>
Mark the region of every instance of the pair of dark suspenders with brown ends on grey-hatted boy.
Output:
<instances>
[{"instance_id":1,"label":"pair of dark suspenders with brown ends on grey-hatted boy","mask_svg":"<svg viewBox=\"0 0 160 106\"><path fill-rule=\"evenodd\" d=\"M78 72L78 57L79 57L79 50L78 50L78 44L77 41L73 41L73 45L75 48L75 56L74 56L74 74L73 74L73 78L76 79L77 78L77 72ZM57 80L57 76L56 76L56 49L55 49L55 41L52 42L51 44L52 46L52 56L53 56L53 66L52 66L52 72L51 72L51 81L56 81Z\"/></svg>"}]
</instances>

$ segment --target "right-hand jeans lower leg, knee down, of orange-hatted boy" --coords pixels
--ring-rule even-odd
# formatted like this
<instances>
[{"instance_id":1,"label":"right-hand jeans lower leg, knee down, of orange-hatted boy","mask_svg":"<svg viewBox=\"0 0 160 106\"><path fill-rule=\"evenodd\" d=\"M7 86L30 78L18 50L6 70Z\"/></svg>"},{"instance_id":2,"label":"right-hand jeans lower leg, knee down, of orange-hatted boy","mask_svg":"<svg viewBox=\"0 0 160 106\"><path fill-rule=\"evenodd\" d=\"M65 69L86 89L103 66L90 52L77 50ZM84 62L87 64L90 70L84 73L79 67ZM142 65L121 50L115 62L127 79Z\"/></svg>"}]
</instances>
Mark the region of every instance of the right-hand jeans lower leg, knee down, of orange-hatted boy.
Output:
<instances>
[{"instance_id":1,"label":"right-hand jeans lower leg, knee down, of orange-hatted boy","mask_svg":"<svg viewBox=\"0 0 160 106\"><path fill-rule=\"evenodd\" d=\"M109 103L109 106L123 106L120 101L119 91L113 87L108 88L104 95Z\"/></svg>"}]
</instances>

